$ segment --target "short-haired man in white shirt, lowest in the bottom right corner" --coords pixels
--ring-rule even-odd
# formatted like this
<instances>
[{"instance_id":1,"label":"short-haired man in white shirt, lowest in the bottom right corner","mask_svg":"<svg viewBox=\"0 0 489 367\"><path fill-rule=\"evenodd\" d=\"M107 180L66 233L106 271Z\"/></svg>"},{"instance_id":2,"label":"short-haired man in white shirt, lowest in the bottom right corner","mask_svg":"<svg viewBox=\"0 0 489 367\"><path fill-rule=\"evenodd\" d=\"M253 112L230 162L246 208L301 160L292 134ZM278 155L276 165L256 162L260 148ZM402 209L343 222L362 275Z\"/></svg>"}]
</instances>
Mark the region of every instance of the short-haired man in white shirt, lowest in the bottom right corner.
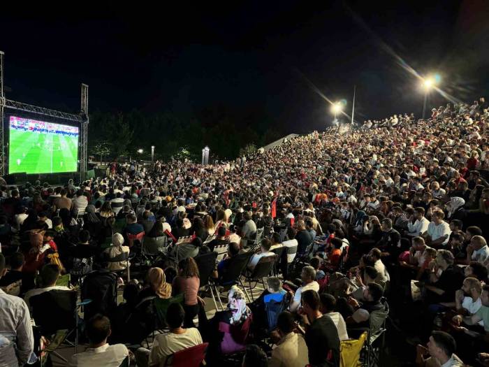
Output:
<instances>
[{"instance_id":1,"label":"short-haired man in white shirt, lowest in the bottom right corner","mask_svg":"<svg viewBox=\"0 0 489 367\"><path fill-rule=\"evenodd\" d=\"M455 339L444 331L433 331L428 348L416 346L416 366L462 367L464 363L457 357Z\"/></svg>"}]
</instances>

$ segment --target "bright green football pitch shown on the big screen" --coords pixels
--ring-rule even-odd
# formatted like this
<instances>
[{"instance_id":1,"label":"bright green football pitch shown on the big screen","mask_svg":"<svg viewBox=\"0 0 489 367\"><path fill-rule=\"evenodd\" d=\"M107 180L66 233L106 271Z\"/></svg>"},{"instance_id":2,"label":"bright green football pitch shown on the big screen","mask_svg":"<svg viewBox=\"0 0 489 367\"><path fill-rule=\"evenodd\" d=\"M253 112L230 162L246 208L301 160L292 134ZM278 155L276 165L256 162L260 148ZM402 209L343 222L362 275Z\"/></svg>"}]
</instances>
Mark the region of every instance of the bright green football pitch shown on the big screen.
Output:
<instances>
[{"instance_id":1,"label":"bright green football pitch shown on the big screen","mask_svg":"<svg viewBox=\"0 0 489 367\"><path fill-rule=\"evenodd\" d=\"M9 173L77 171L78 136L9 129Z\"/></svg>"}]
</instances>

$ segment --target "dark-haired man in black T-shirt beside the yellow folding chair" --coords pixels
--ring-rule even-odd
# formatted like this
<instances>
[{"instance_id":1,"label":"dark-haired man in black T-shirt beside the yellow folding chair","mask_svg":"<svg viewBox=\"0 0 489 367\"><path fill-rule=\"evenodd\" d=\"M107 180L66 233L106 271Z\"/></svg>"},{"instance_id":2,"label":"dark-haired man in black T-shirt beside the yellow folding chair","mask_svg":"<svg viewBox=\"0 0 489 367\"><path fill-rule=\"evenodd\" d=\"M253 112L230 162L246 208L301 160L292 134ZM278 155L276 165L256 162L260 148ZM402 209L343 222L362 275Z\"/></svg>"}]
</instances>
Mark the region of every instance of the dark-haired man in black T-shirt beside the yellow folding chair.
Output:
<instances>
[{"instance_id":1,"label":"dark-haired man in black T-shirt beside the yellow folding chair","mask_svg":"<svg viewBox=\"0 0 489 367\"><path fill-rule=\"evenodd\" d=\"M311 366L340 366L340 338L333 320L321 313L321 301L316 291L302 293L301 312L310 326L305 332Z\"/></svg>"}]
</instances>

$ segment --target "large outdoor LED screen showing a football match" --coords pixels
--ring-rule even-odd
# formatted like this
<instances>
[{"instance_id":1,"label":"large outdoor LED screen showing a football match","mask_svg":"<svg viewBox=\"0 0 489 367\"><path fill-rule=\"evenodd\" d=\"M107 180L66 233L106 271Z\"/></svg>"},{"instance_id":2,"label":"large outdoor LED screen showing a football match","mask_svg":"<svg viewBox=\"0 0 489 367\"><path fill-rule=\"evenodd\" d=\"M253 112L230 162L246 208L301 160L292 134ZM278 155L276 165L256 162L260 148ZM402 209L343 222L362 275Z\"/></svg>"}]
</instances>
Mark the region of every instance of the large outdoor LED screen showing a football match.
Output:
<instances>
[{"instance_id":1,"label":"large outdoor LED screen showing a football match","mask_svg":"<svg viewBox=\"0 0 489 367\"><path fill-rule=\"evenodd\" d=\"M77 171L78 127L10 116L9 173Z\"/></svg>"}]
</instances>

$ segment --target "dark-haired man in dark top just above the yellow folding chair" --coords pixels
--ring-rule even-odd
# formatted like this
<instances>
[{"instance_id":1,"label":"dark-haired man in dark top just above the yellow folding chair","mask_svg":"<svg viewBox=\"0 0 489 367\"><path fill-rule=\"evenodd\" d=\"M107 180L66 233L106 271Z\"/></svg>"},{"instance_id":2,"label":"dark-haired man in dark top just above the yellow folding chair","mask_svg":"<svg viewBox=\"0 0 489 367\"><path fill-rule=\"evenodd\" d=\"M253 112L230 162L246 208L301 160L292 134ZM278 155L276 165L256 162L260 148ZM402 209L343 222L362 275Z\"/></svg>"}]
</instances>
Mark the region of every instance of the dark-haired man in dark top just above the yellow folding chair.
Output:
<instances>
[{"instance_id":1,"label":"dark-haired man in dark top just above the yellow folding chair","mask_svg":"<svg viewBox=\"0 0 489 367\"><path fill-rule=\"evenodd\" d=\"M363 289L363 301L360 303L355 298L349 297L338 299L338 310L345 319L347 325L353 327L367 326L370 319L370 312L384 310L385 306L381 303L384 289L377 283L370 283Z\"/></svg>"}]
</instances>

